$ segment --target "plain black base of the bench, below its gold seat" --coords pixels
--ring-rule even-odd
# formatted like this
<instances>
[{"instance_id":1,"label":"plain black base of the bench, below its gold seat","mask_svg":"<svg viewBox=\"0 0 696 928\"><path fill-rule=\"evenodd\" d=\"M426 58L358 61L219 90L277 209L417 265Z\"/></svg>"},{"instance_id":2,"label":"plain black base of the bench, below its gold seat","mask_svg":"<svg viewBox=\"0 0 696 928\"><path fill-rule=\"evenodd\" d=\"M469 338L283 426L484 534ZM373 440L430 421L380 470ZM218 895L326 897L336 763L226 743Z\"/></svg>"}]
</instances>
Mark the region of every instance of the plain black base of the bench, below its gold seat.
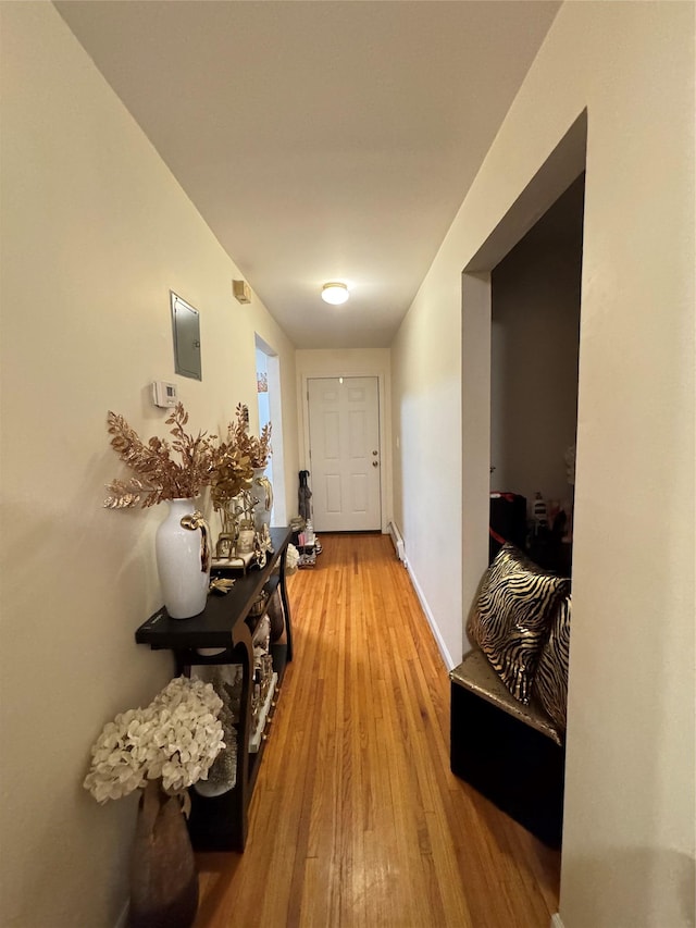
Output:
<instances>
[{"instance_id":1,"label":"plain black base of the bench, below its gold seat","mask_svg":"<svg viewBox=\"0 0 696 928\"><path fill-rule=\"evenodd\" d=\"M566 751L452 677L450 766L545 844L559 847Z\"/></svg>"}]
</instances>

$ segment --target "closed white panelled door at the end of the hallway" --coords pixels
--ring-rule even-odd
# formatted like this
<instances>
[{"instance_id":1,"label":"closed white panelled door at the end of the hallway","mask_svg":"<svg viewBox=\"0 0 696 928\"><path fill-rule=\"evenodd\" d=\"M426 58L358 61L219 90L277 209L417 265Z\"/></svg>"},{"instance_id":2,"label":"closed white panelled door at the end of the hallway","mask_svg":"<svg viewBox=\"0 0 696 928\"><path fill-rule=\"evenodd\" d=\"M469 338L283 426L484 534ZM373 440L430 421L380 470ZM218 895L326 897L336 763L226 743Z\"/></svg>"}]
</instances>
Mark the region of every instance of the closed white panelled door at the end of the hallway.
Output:
<instances>
[{"instance_id":1,"label":"closed white panelled door at the end of the hallway","mask_svg":"<svg viewBox=\"0 0 696 928\"><path fill-rule=\"evenodd\" d=\"M308 398L315 531L381 529L377 378L311 378Z\"/></svg>"}]
</instances>

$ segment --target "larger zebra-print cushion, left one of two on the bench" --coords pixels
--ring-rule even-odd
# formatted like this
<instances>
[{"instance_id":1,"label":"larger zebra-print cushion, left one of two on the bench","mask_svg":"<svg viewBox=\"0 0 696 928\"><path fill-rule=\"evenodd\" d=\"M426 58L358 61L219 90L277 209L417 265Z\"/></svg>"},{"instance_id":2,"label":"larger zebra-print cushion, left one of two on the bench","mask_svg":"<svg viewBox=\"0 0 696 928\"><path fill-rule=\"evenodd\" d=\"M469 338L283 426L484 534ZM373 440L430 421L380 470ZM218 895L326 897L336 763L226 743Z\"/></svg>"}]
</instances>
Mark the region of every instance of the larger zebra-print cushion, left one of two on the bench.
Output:
<instances>
[{"instance_id":1,"label":"larger zebra-print cushion, left one of two on the bench","mask_svg":"<svg viewBox=\"0 0 696 928\"><path fill-rule=\"evenodd\" d=\"M554 608L568 592L568 580L537 567L510 543L484 573L467 631L525 705Z\"/></svg>"}]
</instances>

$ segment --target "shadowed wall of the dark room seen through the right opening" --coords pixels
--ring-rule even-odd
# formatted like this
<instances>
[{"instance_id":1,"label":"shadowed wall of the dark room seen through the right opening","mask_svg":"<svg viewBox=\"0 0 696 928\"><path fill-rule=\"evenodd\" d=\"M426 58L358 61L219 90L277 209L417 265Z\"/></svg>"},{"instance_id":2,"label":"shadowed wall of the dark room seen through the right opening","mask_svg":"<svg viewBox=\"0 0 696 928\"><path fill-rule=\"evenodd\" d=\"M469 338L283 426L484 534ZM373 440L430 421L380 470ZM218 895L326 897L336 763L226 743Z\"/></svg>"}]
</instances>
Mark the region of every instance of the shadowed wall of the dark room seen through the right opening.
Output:
<instances>
[{"instance_id":1,"label":"shadowed wall of the dark room seen through the right opening","mask_svg":"<svg viewBox=\"0 0 696 928\"><path fill-rule=\"evenodd\" d=\"M490 275L490 488L570 505L582 256L581 177Z\"/></svg>"}]
</instances>

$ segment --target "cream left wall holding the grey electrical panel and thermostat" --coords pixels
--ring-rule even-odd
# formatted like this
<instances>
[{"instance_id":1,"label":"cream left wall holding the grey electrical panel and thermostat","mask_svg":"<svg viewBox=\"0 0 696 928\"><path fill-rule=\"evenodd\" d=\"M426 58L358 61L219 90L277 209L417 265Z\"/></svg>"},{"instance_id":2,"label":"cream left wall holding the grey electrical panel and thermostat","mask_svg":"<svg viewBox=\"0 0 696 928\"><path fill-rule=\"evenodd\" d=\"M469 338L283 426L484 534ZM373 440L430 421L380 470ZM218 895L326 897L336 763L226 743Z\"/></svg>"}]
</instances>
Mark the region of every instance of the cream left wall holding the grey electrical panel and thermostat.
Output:
<instances>
[{"instance_id":1,"label":"cream left wall holding the grey electrical panel and thermostat","mask_svg":"<svg viewBox=\"0 0 696 928\"><path fill-rule=\"evenodd\" d=\"M278 352L297 472L294 348L49 3L2 4L2 887L0 923L113 926L135 796L82 788L116 712L171 656L136 645L160 604L154 510L107 511L107 410L164 435L175 380L198 430L256 416L254 332ZM174 375L169 290L200 310L201 383ZM252 420L253 421L253 420Z\"/></svg>"}]
</instances>

